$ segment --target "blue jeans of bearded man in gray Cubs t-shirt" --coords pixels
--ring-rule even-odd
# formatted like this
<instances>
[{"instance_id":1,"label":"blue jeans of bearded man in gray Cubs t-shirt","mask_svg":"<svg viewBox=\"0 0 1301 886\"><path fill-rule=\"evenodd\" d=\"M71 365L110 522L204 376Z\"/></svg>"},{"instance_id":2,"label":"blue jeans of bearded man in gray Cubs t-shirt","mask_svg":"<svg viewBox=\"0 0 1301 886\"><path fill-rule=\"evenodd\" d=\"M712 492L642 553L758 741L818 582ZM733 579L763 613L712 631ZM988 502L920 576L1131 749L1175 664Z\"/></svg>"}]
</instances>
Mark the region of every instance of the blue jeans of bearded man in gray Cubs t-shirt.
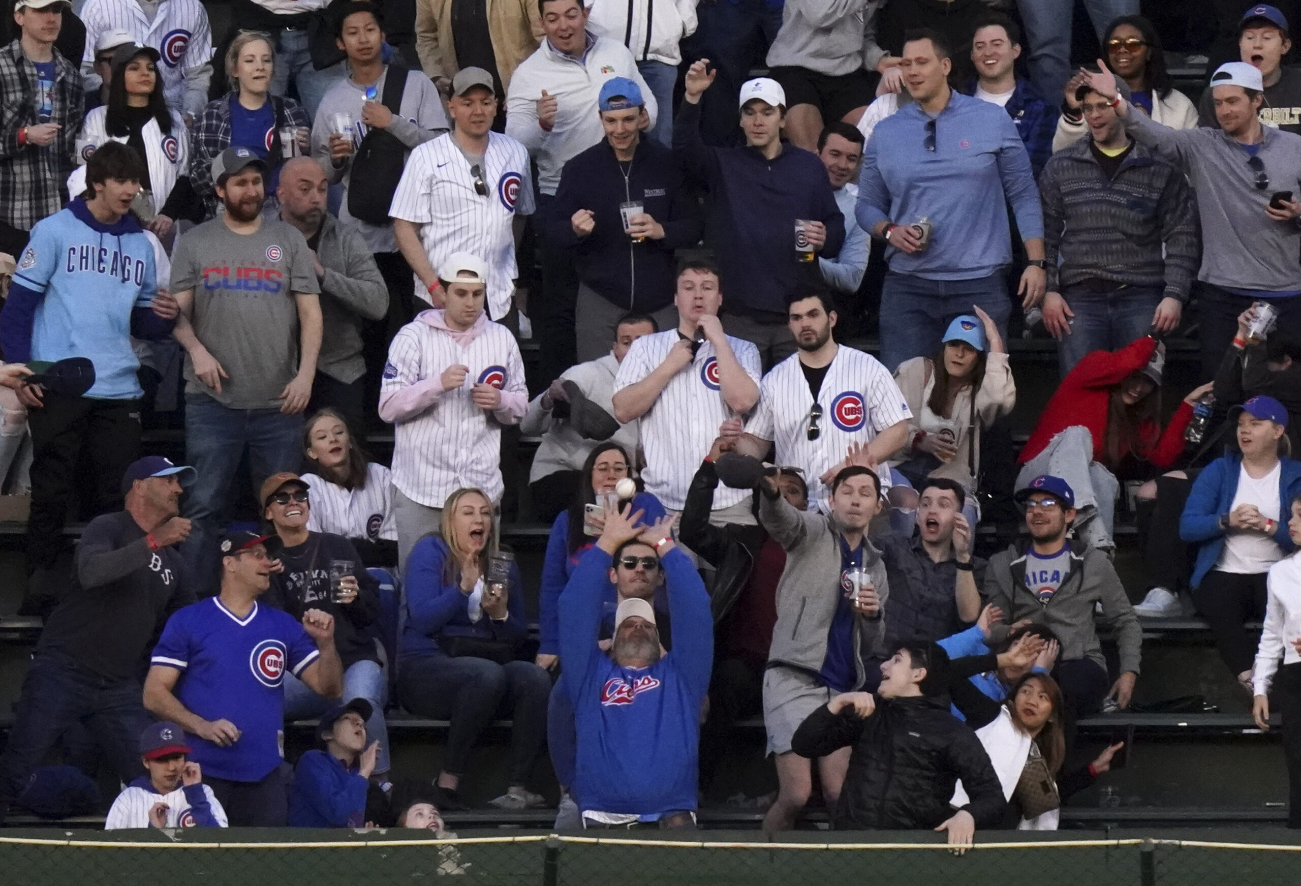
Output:
<instances>
[{"instance_id":1,"label":"blue jeans of bearded man in gray Cubs t-shirt","mask_svg":"<svg viewBox=\"0 0 1301 886\"><path fill-rule=\"evenodd\" d=\"M297 471L302 464L303 416L276 409L228 409L207 394L186 394L185 458L198 477L185 501L185 515L194 526L182 553L200 597L219 585L220 522L246 446L256 496L272 474Z\"/></svg>"}]
</instances>

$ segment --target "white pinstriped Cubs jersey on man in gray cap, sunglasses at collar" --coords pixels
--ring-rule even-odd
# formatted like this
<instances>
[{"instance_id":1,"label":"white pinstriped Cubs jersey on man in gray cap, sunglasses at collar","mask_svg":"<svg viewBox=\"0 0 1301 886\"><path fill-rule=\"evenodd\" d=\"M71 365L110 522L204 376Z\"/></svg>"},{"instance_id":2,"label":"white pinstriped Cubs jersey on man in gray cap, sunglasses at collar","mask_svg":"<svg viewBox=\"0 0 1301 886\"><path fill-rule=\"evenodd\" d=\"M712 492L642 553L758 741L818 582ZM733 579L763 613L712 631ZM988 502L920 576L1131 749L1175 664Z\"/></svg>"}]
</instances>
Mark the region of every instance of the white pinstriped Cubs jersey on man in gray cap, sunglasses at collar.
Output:
<instances>
[{"instance_id":1,"label":"white pinstriped Cubs jersey on man in gray cap, sunglasses at collar","mask_svg":"<svg viewBox=\"0 0 1301 886\"><path fill-rule=\"evenodd\" d=\"M507 135L488 133L480 172L484 194L476 190L470 161L451 133L425 142L407 157L389 215L422 225L420 242L435 273L453 252L470 252L487 262L488 316L500 320L510 311L519 273L514 219L533 213L528 151ZM415 294L429 301L419 278Z\"/></svg>"}]
</instances>

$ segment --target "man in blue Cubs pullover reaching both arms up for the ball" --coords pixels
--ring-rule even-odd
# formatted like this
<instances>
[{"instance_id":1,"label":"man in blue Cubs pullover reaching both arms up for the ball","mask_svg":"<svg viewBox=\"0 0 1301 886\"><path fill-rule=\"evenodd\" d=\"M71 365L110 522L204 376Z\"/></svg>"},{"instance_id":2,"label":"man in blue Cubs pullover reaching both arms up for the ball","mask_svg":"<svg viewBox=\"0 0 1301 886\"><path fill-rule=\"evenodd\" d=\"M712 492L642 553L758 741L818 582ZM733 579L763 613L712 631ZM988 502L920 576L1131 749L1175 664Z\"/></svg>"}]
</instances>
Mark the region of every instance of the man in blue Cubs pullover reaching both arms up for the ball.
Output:
<instances>
[{"instance_id":1,"label":"man in blue Cubs pullover reaching both arms up for the ball","mask_svg":"<svg viewBox=\"0 0 1301 886\"><path fill-rule=\"evenodd\" d=\"M562 679L578 725L574 794L584 827L695 827L700 705L714 654L709 595L674 550L671 518L637 527L640 513L628 510L606 515L561 595ZM610 653L597 648L615 570L664 570L673 652L661 651L654 610L636 597L615 611Z\"/></svg>"}]
</instances>

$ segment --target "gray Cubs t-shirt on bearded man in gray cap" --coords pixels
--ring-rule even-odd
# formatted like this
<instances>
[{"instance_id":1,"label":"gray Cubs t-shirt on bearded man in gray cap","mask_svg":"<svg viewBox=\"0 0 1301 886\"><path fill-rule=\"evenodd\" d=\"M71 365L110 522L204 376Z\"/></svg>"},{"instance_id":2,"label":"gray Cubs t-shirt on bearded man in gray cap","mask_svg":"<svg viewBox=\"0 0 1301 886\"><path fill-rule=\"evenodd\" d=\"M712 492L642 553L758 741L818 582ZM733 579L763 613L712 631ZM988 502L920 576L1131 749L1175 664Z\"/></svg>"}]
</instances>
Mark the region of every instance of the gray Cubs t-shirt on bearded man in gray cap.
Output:
<instances>
[{"instance_id":1,"label":"gray Cubs t-shirt on bearded man in gray cap","mask_svg":"<svg viewBox=\"0 0 1301 886\"><path fill-rule=\"evenodd\" d=\"M177 241L172 291L194 290L194 332L229 379L221 393L194 375L185 358L185 392L229 409L280 409L276 399L298 373L298 306L294 293L320 293L302 233L263 216L252 234L237 234L220 217Z\"/></svg>"}]
</instances>

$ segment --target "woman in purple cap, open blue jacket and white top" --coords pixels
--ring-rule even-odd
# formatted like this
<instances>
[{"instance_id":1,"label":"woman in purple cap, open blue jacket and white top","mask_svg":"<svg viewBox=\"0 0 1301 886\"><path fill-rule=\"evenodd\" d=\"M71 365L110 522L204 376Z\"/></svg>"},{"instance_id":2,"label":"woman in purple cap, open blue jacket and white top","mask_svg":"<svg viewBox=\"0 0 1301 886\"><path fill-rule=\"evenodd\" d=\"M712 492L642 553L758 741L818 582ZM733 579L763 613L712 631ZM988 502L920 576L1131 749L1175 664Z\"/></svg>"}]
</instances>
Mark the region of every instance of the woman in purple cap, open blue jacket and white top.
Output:
<instances>
[{"instance_id":1,"label":"woman in purple cap, open blue jacket and white top","mask_svg":"<svg viewBox=\"0 0 1301 886\"><path fill-rule=\"evenodd\" d=\"M1193 600L1224 664L1250 691L1255 639L1245 623L1265 618L1266 574L1292 552L1289 502L1301 494L1301 462L1289 458L1288 412L1272 397L1235 406L1229 420L1237 424L1237 451L1198 475L1179 536L1201 543Z\"/></svg>"}]
</instances>

